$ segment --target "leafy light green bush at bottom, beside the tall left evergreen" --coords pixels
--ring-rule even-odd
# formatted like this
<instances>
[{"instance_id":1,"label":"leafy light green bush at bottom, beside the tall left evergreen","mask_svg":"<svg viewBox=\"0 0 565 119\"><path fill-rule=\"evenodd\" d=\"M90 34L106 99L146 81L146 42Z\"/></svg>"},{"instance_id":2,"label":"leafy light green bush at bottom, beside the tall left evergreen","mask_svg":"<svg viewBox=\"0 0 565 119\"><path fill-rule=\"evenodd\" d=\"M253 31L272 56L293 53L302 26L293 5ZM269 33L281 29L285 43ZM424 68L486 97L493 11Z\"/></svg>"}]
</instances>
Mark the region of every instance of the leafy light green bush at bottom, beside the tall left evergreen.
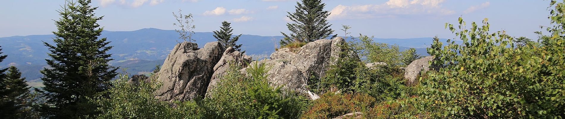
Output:
<instances>
[{"instance_id":1,"label":"leafy light green bush at bottom, beside the tall left evergreen","mask_svg":"<svg viewBox=\"0 0 565 119\"><path fill-rule=\"evenodd\" d=\"M114 88L100 92L90 99L98 105L98 115L89 118L197 118L199 108L193 101L160 102L155 91L162 84L156 80L140 81L139 85L129 83L127 74L120 74L113 81ZM170 105L176 105L175 108Z\"/></svg>"}]
</instances>

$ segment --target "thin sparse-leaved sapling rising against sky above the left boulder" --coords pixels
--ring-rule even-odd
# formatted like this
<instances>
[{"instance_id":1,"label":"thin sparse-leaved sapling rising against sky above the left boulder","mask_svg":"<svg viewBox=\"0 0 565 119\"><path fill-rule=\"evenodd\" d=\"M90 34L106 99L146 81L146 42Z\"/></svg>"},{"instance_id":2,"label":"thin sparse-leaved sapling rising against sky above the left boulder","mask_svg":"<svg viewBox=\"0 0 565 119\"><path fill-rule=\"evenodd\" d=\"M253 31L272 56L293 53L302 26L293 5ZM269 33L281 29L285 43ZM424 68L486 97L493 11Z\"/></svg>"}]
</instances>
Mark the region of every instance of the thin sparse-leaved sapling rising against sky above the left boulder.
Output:
<instances>
[{"instance_id":1,"label":"thin sparse-leaved sapling rising against sky above the left boulder","mask_svg":"<svg viewBox=\"0 0 565 119\"><path fill-rule=\"evenodd\" d=\"M179 15L173 12L173 17L175 17L175 20L178 22L173 23L173 25L180 27L180 29L175 29L175 32L179 33L179 39L182 39L184 42L196 42L195 39L192 39L192 35L194 34L193 30L196 28L196 26L193 25L194 20L192 19L192 14L182 15L182 10L179 8Z\"/></svg>"}]
</instances>

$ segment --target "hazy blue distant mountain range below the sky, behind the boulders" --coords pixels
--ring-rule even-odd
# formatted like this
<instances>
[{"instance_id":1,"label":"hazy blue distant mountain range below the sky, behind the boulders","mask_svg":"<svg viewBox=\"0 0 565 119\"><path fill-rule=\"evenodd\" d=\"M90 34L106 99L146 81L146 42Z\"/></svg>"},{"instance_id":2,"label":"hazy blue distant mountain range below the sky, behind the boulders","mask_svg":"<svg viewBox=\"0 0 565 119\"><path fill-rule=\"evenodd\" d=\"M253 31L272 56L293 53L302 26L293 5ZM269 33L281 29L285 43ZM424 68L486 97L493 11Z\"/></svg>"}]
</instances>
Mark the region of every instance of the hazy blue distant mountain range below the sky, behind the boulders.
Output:
<instances>
[{"instance_id":1,"label":"hazy blue distant mountain range below the sky, behind the boulders","mask_svg":"<svg viewBox=\"0 0 565 119\"><path fill-rule=\"evenodd\" d=\"M216 41L212 36L212 32L197 32L192 38L202 47L207 42ZM127 32L103 31L99 38L107 38L111 41L110 45L114 46L109 54L112 55L114 61L111 65L121 68L128 68L128 72L132 74L146 74L153 70L155 65L163 63L162 59L175 47L179 34L175 30L162 30L155 28L145 28ZM15 65L18 67L23 76L28 81L38 80L41 74L38 72L46 67L45 59L47 56L47 47L43 42L54 44L54 35L31 35L31 36L12 36L0 38L0 46L3 55L8 57L0 63L1 68ZM278 47L279 40L282 36L256 36L244 34L240 37L238 43L242 44L242 50L247 55L254 58L264 58L275 51ZM446 41L446 39L441 39ZM427 55L425 47L432 42L432 38L375 38L375 42L388 44L397 44L401 50L408 47L416 48L421 55ZM121 71L120 71L121 72Z\"/></svg>"}]
</instances>

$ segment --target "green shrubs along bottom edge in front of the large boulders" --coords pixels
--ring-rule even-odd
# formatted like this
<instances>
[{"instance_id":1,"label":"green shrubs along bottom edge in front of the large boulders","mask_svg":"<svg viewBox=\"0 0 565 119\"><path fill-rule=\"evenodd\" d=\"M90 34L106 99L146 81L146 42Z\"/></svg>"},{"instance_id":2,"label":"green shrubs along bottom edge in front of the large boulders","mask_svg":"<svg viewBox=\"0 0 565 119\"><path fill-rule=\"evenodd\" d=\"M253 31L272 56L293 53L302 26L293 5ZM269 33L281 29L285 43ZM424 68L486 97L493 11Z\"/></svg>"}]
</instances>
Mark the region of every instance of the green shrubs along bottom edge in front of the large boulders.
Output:
<instances>
[{"instance_id":1,"label":"green shrubs along bottom edge in front of the large boulders","mask_svg":"<svg viewBox=\"0 0 565 119\"><path fill-rule=\"evenodd\" d=\"M161 102L155 98L160 82L132 83L121 74L114 88L90 99L100 114L87 118L299 118L310 104L293 91L270 86L265 64L255 61L246 74L241 64L229 68L207 98L185 102Z\"/></svg>"}]
</instances>

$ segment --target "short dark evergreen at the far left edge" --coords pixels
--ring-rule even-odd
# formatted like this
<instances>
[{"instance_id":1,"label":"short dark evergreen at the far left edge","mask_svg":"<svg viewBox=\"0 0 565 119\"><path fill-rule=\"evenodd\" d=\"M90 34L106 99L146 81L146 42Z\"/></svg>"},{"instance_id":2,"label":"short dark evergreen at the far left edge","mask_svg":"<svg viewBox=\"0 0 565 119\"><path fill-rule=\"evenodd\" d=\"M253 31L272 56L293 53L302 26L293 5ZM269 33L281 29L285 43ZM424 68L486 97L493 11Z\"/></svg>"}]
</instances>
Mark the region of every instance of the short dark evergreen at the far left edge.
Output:
<instances>
[{"instance_id":1,"label":"short dark evergreen at the far left edge","mask_svg":"<svg viewBox=\"0 0 565 119\"><path fill-rule=\"evenodd\" d=\"M30 87L28 87L25 78L21 78L21 72L18 68L14 66L8 68L3 83L6 85L7 95L2 98L2 102L6 105L0 107L2 112L0 116L3 118L27 118L30 116L29 111L25 111L31 106L29 100Z\"/></svg>"}]
</instances>

